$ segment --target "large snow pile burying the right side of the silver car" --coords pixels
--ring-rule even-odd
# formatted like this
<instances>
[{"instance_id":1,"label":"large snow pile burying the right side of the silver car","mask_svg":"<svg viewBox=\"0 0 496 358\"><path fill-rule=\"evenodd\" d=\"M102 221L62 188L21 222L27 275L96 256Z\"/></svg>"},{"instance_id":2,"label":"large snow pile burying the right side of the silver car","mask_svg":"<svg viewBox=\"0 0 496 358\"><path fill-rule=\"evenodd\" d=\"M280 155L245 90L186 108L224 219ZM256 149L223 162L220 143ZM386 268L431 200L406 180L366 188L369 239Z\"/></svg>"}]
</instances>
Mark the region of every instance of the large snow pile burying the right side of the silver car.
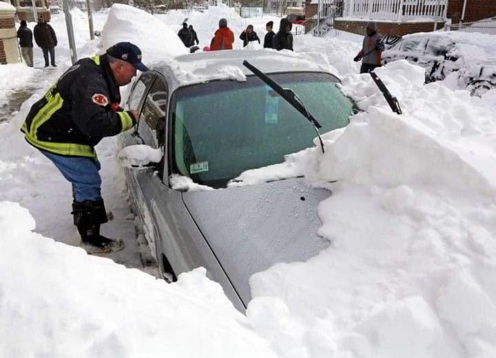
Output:
<instances>
[{"instance_id":1,"label":"large snow pile burying the right side of the silver car","mask_svg":"<svg viewBox=\"0 0 496 358\"><path fill-rule=\"evenodd\" d=\"M406 61L376 71L404 114L368 74L344 79L367 112L324 155L287 157L333 191L318 207L331 246L252 276L247 316L282 357L494 357L496 91L423 86Z\"/></svg>"}]
</instances>

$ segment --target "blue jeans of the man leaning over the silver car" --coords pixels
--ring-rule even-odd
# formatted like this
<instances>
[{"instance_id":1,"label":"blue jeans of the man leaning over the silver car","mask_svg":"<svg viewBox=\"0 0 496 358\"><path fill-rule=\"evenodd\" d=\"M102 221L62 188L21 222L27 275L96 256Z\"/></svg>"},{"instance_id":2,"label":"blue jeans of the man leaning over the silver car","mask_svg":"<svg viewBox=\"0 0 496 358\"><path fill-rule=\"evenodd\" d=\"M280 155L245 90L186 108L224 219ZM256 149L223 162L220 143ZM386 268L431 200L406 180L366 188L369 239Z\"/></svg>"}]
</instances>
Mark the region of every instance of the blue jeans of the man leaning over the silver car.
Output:
<instances>
[{"instance_id":1,"label":"blue jeans of the man leaning over the silver car","mask_svg":"<svg viewBox=\"0 0 496 358\"><path fill-rule=\"evenodd\" d=\"M40 152L50 159L63 177L72 183L72 197L76 201L101 199L100 162L85 157L64 157L45 150Z\"/></svg>"}]
</instances>

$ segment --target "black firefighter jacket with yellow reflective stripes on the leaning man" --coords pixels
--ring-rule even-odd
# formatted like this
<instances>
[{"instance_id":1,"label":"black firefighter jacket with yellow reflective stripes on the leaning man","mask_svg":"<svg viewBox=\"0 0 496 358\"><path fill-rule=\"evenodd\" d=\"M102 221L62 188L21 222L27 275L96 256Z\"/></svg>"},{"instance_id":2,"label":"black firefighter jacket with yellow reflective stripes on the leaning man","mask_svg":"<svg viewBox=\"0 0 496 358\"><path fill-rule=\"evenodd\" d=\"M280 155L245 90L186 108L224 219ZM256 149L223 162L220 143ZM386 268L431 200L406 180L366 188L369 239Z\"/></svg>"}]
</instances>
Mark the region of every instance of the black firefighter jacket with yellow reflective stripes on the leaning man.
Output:
<instances>
[{"instance_id":1,"label":"black firefighter jacket with yellow reflective stripes on the leaning man","mask_svg":"<svg viewBox=\"0 0 496 358\"><path fill-rule=\"evenodd\" d=\"M118 107L120 102L121 94L106 55L81 59L33 104L21 130L37 148L60 155L92 157L88 153L94 152L93 147L103 137L117 135L136 123L132 112ZM70 152L70 146L65 152L56 151L57 146L67 143L86 146L86 154Z\"/></svg>"}]
</instances>

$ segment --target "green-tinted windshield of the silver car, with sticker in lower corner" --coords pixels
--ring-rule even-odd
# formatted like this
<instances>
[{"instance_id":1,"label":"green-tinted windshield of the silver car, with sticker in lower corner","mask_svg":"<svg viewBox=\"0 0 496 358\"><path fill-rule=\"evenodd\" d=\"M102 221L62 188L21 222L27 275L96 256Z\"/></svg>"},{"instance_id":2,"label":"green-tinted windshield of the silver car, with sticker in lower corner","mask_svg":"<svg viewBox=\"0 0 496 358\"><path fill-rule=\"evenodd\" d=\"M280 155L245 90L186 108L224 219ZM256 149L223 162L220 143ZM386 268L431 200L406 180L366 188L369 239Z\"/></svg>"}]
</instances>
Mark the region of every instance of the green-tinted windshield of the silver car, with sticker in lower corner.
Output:
<instances>
[{"instance_id":1,"label":"green-tinted windshield of the silver car, with sticker in lower corner","mask_svg":"<svg viewBox=\"0 0 496 358\"><path fill-rule=\"evenodd\" d=\"M349 123L353 103L331 74L269 77L298 95L322 133ZM255 76L180 88L172 109L174 170L214 188L245 170L281 163L284 155L313 146L316 137L311 123Z\"/></svg>"}]
</instances>

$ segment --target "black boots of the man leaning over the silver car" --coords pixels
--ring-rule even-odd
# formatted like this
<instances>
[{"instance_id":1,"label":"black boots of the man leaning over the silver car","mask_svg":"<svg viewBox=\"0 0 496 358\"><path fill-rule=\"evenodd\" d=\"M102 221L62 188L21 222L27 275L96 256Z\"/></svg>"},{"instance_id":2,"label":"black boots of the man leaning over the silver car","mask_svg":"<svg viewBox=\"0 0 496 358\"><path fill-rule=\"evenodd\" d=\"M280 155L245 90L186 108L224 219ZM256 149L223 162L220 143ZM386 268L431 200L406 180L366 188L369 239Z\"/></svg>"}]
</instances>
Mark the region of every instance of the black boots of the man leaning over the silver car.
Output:
<instances>
[{"instance_id":1,"label":"black boots of the man leaning over the silver car","mask_svg":"<svg viewBox=\"0 0 496 358\"><path fill-rule=\"evenodd\" d=\"M98 201L73 201L72 215L81 241L88 253L110 253L121 250L124 244L119 239L100 235L100 224L107 222L103 199Z\"/></svg>"}]
</instances>

